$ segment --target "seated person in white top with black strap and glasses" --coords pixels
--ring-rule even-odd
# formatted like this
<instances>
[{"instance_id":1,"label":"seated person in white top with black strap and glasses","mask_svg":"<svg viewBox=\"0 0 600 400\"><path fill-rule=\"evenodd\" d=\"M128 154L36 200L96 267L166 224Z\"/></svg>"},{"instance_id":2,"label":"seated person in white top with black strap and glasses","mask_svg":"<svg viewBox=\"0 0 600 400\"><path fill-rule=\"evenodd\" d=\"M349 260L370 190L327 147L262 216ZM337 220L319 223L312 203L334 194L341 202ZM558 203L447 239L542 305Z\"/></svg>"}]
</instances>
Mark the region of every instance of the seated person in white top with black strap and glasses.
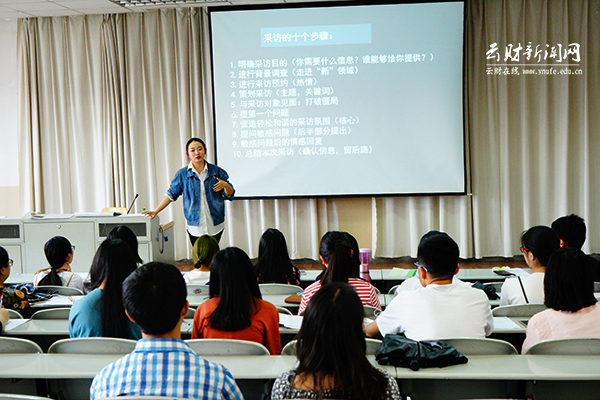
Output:
<instances>
[{"instance_id":1,"label":"seated person in white top with black strap and glasses","mask_svg":"<svg viewBox=\"0 0 600 400\"><path fill-rule=\"evenodd\" d=\"M544 272L552 253L559 248L556 233L547 226L534 226L521 235L521 251L531 275L507 278L502 285L500 305L544 302Z\"/></svg>"}]
</instances>

